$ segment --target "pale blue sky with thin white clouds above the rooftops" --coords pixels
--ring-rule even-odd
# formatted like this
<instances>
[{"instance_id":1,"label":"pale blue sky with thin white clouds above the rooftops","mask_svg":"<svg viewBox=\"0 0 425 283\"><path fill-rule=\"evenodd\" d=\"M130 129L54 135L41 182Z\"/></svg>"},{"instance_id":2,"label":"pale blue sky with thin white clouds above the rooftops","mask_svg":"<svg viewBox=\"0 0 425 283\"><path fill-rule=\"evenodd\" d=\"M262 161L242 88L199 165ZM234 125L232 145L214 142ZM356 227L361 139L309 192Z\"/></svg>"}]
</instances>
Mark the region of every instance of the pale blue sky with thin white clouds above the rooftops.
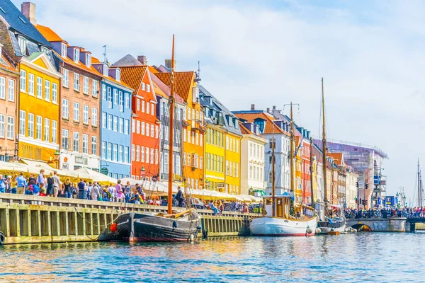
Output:
<instances>
[{"instance_id":1,"label":"pale blue sky with thin white clouds above the rooftops","mask_svg":"<svg viewBox=\"0 0 425 283\"><path fill-rule=\"evenodd\" d=\"M327 137L378 146L387 195L414 197L425 164L423 1L34 3L38 23L99 58L106 45L111 63L130 53L164 64L175 34L177 71L200 61L202 85L230 110L300 103L295 122L314 137L323 77Z\"/></svg>"}]
</instances>

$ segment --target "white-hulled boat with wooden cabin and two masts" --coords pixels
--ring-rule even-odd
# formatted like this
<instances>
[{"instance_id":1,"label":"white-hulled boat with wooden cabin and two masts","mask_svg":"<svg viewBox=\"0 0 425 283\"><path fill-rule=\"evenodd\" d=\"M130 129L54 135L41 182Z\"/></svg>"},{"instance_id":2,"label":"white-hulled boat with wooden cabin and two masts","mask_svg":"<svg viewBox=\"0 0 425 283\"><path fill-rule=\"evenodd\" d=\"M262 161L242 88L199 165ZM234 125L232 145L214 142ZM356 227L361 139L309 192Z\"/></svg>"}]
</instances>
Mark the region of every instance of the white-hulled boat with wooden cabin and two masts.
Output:
<instances>
[{"instance_id":1,"label":"white-hulled boat with wooden cabin and two masts","mask_svg":"<svg viewBox=\"0 0 425 283\"><path fill-rule=\"evenodd\" d=\"M274 125L273 125L274 127ZM273 137L272 164L272 196L264 199L266 215L249 221L252 236L313 236L317 227L317 215L312 207L294 204L293 196L288 193L276 195L275 192L275 138ZM293 105L290 103L290 188L294 187L294 123Z\"/></svg>"}]
</instances>

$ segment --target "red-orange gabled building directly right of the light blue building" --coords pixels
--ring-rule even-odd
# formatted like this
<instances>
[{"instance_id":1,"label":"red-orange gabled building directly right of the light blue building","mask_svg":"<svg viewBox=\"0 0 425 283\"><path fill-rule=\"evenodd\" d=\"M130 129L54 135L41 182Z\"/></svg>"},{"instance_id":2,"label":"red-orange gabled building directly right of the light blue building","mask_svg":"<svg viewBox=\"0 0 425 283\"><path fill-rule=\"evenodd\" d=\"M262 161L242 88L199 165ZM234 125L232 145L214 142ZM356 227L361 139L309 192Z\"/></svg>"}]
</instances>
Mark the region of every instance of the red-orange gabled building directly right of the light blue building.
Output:
<instances>
[{"instance_id":1,"label":"red-orange gabled building directly right of the light blue building","mask_svg":"<svg viewBox=\"0 0 425 283\"><path fill-rule=\"evenodd\" d=\"M140 57L140 62L126 62L123 59L113 64L113 67L120 67L121 81L135 89L131 103L131 177L135 180L145 177L149 181L153 176L159 177L157 98L145 57Z\"/></svg>"}]
</instances>

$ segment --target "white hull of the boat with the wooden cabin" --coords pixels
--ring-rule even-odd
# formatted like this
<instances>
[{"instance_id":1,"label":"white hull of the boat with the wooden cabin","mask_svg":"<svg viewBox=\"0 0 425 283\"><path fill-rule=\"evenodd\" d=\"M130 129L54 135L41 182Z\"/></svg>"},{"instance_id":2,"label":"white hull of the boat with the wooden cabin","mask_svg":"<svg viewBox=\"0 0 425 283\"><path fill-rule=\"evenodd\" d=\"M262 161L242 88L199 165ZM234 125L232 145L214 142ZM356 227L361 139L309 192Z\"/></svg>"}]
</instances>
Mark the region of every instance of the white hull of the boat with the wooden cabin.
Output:
<instances>
[{"instance_id":1,"label":"white hull of the boat with the wooden cabin","mask_svg":"<svg viewBox=\"0 0 425 283\"><path fill-rule=\"evenodd\" d=\"M314 236L317 216L307 221L278 217L258 217L249 221L252 236Z\"/></svg>"}]
</instances>

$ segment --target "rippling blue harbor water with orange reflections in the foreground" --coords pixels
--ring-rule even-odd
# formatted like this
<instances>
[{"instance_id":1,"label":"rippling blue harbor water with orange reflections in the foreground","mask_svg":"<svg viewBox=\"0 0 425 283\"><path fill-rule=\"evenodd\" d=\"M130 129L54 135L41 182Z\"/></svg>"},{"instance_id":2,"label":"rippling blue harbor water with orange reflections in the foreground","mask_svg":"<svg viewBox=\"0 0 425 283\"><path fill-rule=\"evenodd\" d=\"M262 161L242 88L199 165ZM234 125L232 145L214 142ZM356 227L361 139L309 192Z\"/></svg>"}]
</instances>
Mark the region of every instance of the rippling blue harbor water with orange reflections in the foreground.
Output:
<instances>
[{"instance_id":1,"label":"rippling blue harbor water with orange reflections in the foreground","mask_svg":"<svg viewBox=\"0 0 425 283\"><path fill-rule=\"evenodd\" d=\"M425 233L0 247L1 282L424 282Z\"/></svg>"}]
</instances>

